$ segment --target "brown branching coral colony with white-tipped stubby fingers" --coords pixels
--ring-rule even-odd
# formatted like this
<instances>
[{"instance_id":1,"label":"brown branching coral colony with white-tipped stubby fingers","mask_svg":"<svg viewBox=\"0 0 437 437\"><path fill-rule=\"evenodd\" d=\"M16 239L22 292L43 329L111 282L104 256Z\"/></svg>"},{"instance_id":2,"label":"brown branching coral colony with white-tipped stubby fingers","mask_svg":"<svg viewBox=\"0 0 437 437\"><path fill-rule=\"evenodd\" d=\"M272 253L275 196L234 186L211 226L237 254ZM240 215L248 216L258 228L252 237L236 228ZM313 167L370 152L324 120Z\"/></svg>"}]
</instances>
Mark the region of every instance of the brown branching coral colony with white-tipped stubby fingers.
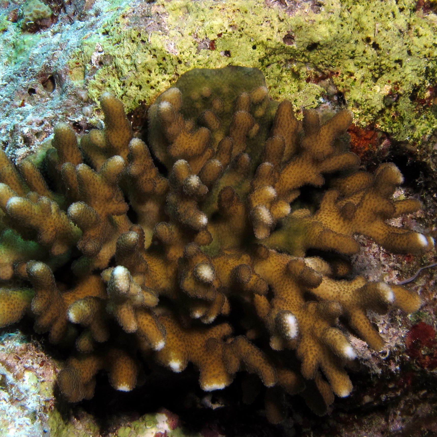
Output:
<instances>
[{"instance_id":1,"label":"brown branching coral colony with white-tipped stubby fingers","mask_svg":"<svg viewBox=\"0 0 437 437\"><path fill-rule=\"evenodd\" d=\"M1 153L0 325L29 313L71 348L58 377L71 402L93 396L101 369L128 391L153 362L193 363L205 391L246 371L267 387L272 422L284 393L320 414L349 395L343 367L355 354L339 316L380 350L367 310L420 306L402 286L351 277L354 235L395 253L434 244L387 224L420 203L392 200L394 164L358 170L343 135L351 112L321 125L309 110L300 122L290 102L269 99L257 69L191 70L149 110L164 177L121 102L104 94L101 107L105 128L80 146L56 126L41 169ZM323 184L319 206L302 208L299 189Z\"/></svg>"}]
</instances>

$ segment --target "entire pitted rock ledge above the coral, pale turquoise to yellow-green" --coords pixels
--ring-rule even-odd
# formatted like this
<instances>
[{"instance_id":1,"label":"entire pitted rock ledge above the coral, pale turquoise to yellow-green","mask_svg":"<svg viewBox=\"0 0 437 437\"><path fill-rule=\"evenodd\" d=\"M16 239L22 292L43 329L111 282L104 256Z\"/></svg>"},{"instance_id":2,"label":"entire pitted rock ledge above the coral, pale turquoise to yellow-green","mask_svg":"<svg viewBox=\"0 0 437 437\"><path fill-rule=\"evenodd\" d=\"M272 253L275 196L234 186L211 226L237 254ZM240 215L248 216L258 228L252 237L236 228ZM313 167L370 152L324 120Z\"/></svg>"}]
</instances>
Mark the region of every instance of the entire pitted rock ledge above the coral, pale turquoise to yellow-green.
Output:
<instances>
[{"instance_id":1,"label":"entire pitted rock ledge above the coral, pale turquoise to yellow-green","mask_svg":"<svg viewBox=\"0 0 437 437\"><path fill-rule=\"evenodd\" d=\"M344 97L356 125L396 141L418 143L436 124L437 15L429 2L97 0L65 11L52 5L52 24L33 33L20 19L28 2L0 17L3 146L33 146L55 115L87 128L102 116L95 109L104 91L129 112L192 68L229 64L259 68L271 96L297 109ZM87 90L85 101L77 90Z\"/></svg>"}]
</instances>

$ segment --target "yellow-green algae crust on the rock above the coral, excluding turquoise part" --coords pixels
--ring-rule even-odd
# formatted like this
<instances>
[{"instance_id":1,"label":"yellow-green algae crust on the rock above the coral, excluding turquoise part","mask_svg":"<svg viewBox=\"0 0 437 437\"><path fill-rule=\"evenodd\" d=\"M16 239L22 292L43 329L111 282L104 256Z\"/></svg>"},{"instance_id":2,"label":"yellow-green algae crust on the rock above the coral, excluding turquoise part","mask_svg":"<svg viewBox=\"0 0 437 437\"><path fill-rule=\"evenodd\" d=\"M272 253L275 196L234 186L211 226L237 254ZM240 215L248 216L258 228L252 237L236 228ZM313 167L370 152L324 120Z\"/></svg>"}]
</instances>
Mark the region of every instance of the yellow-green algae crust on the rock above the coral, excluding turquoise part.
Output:
<instances>
[{"instance_id":1,"label":"yellow-green algae crust on the rock above the coral, excluding turquoise part","mask_svg":"<svg viewBox=\"0 0 437 437\"><path fill-rule=\"evenodd\" d=\"M233 64L261 69L271 96L298 108L323 102L316 77L329 76L360 125L375 123L402 141L432 132L436 119L423 99L436 83L433 12L416 11L416 0L331 0L293 14L277 3L158 0L144 10L122 3L77 54L88 66L93 54L113 57L87 83L89 94L97 101L111 89L129 111L189 69ZM390 94L398 100L386 107Z\"/></svg>"}]
</instances>

